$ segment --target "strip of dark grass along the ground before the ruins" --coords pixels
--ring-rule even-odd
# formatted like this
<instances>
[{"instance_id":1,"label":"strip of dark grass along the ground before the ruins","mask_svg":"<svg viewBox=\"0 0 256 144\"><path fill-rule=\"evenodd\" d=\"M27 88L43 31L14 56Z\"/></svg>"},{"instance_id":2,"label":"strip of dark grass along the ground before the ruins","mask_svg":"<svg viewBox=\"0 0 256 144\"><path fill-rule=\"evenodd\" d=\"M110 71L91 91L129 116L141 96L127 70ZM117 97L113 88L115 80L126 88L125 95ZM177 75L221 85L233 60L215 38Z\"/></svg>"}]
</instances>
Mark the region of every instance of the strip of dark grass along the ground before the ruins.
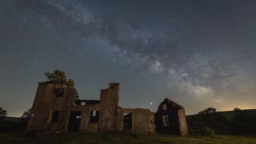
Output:
<instances>
[{"instance_id":1,"label":"strip of dark grass along the ground before the ruins","mask_svg":"<svg viewBox=\"0 0 256 144\"><path fill-rule=\"evenodd\" d=\"M24 133L0 134L0 143L174 143L174 144L204 144L204 143L256 143L256 136L221 135L214 137L188 136L178 137L163 134L123 134L123 133L59 133L28 135Z\"/></svg>"}]
</instances>

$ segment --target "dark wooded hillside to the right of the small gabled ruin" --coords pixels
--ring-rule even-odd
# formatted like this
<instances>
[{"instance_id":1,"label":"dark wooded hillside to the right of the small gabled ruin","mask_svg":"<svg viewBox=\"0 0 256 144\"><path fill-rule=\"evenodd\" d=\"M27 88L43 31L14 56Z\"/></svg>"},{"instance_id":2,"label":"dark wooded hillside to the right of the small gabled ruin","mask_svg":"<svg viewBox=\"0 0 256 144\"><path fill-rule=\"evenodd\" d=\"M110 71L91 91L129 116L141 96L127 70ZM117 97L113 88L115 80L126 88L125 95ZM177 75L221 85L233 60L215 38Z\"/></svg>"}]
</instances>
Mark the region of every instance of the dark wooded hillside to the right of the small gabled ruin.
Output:
<instances>
[{"instance_id":1,"label":"dark wooded hillside to the right of the small gabled ruin","mask_svg":"<svg viewBox=\"0 0 256 144\"><path fill-rule=\"evenodd\" d=\"M216 134L256 134L256 109L186 116L190 134L210 127Z\"/></svg>"}]
</instances>

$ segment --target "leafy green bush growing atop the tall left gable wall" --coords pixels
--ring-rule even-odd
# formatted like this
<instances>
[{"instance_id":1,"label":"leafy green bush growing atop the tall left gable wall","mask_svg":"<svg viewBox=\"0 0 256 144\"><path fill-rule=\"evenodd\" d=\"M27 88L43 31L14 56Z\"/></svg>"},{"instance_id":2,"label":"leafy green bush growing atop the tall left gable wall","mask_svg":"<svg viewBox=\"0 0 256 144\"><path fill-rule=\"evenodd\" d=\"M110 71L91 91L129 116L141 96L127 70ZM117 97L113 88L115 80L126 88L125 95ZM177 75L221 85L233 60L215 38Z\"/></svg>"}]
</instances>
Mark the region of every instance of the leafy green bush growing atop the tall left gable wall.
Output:
<instances>
[{"instance_id":1,"label":"leafy green bush growing atop the tall left gable wall","mask_svg":"<svg viewBox=\"0 0 256 144\"><path fill-rule=\"evenodd\" d=\"M44 75L50 80L52 83L56 84L66 84L68 86L75 86L75 82L73 79L68 79L64 71L55 70L53 73L46 72Z\"/></svg>"}]
</instances>

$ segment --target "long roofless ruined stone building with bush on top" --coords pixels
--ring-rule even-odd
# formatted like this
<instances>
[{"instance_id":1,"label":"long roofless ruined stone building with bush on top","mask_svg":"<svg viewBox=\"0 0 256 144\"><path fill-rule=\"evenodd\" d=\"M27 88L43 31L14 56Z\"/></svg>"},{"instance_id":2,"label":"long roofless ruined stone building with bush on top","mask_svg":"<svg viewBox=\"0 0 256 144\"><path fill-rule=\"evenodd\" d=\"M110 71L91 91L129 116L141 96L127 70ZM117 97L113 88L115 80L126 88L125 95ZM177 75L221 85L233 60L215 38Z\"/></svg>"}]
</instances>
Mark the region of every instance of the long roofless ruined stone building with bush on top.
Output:
<instances>
[{"instance_id":1,"label":"long roofless ruined stone building with bush on top","mask_svg":"<svg viewBox=\"0 0 256 144\"><path fill-rule=\"evenodd\" d=\"M154 112L118 106L119 84L100 91L100 100L76 100L65 84L38 83L27 132L155 133Z\"/></svg>"}]
</instances>

